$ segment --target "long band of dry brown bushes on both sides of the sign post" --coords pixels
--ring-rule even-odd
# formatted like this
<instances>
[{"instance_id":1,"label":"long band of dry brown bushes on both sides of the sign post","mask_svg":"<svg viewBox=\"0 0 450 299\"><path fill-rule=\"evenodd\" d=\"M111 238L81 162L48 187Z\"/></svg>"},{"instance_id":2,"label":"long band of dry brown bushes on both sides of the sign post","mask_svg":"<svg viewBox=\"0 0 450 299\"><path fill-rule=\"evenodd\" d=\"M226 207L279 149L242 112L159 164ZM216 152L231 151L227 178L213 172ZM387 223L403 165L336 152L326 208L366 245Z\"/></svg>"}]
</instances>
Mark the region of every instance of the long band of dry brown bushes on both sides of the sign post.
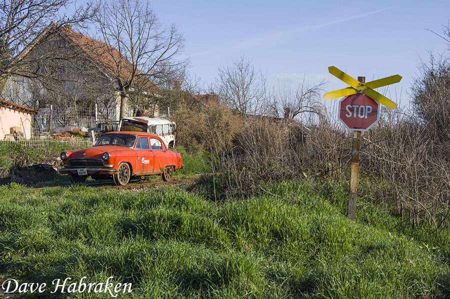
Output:
<instances>
[{"instance_id":1,"label":"long band of dry brown bushes on both sides of the sign post","mask_svg":"<svg viewBox=\"0 0 450 299\"><path fill-rule=\"evenodd\" d=\"M188 110L178 119L184 121L178 124L178 140L215 157L212 171L219 175L206 182L214 200L259 194L265 183L281 179L346 181L351 134L331 115L322 115L319 125L305 126L210 106L195 113ZM413 225L428 222L438 231L448 224L450 212L450 147L436 136L434 126L416 119L414 114L386 110L380 122L362 134L361 182L372 201Z\"/></svg>"}]
</instances>

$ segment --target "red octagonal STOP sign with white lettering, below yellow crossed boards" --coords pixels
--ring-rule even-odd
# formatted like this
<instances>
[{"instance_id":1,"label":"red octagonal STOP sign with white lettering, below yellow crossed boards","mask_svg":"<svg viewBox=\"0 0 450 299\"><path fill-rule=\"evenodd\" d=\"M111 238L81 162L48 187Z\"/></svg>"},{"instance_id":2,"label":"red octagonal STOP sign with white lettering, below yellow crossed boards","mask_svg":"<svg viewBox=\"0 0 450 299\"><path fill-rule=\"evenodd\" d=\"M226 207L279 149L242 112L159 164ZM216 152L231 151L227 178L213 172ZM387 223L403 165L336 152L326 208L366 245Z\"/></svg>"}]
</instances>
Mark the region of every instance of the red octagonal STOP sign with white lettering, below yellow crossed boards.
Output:
<instances>
[{"instance_id":1,"label":"red octagonal STOP sign with white lettering, below yellow crossed boards","mask_svg":"<svg viewBox=\"0 0 450 299\"><path fill-rule=\"evenodd\" d=\"M339 119L352 131L366 131L379 119L379 103L364 93L348 95L339 101Z\"/></svg>"}]
</instances>

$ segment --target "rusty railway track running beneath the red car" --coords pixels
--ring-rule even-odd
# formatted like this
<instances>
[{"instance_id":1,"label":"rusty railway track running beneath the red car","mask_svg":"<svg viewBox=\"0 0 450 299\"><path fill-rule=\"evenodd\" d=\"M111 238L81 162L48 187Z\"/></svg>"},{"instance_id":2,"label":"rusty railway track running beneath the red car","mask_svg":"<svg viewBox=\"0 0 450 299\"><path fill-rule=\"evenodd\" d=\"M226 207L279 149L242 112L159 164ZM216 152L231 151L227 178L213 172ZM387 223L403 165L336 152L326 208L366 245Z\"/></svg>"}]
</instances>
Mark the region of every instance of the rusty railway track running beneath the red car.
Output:
<instances>
[{"instance_id":1,"label":"rusty railway track running beneath the red car","mask_svg":"<svg viewBox=\"0 0 450 299\"><path fill-rule=\"evenodd\" d=\"M192 175L180 175L180 176L173 176L172 180L170 181L163 181L161 178L152 178L150 181L146 182L137 182L137 183L129 183L126 185L114 185L110 182L95 182L95 183L87 183L84 184L85 186L90 187L96 187L99 189L107 190L107 189L120 189L120 190L131 190L131 189L142 189L142 188L151 188L151 187L157 187L157 186L164 186L164 185L177 185L177 184L185 184L185 183L191 183L195 181L198 177L202 176L204 174L192 174ZM43 189L59 189L59 188L65 188L70 187L71 184L63 185L63 186L51 186L51 187L41 187L41 188L26 188L23 189L24 191L38 191Z\"/></svg>"}]
</instances>

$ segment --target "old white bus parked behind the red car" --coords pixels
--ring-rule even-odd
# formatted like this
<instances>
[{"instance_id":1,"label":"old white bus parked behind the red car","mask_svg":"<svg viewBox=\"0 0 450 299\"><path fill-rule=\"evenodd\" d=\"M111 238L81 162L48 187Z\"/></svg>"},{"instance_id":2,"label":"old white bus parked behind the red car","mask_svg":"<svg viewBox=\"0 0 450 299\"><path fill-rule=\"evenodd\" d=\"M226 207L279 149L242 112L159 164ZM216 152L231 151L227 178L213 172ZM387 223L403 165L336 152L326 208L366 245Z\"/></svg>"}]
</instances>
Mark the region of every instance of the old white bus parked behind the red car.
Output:
<instances>
[{"instance_id":1,"label":"old white bus parked behind the red car","mask_svg":"<svg viewBox=\"0 0 450 299\"><path fill-rule=\"evenodd\" d=\"M119 131L137 131L156 134L167 148L175 145L175 123L165 118L135 116L120 120Z\"/></svg>"}]
</instances>

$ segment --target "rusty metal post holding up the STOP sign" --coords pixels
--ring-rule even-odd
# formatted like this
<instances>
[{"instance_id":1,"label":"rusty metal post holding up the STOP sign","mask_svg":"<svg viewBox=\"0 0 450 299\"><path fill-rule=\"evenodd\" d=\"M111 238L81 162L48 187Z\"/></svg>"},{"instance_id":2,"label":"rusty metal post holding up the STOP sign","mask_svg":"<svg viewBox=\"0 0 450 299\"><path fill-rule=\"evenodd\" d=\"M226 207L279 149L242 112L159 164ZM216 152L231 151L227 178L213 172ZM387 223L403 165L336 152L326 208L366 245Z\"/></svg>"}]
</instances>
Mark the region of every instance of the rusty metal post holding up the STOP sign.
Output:
<instances>
[{"instance_id":1,"label":"rusty metal post holding up the STOP sign","mask_svg":"<svg viewBox=\"0 0 450 299\"><path fill-rule=\"evenodd\" d=\"M365 77L358 77L358 81L365 83ZM358 189L359 172L359 147L361 144L361 131L353 131L353 142L351 146L351 164L350 164L350 194L348 196L347 216L354 221L356 214L356 193Z\"/></svg>"}]
</instances>

